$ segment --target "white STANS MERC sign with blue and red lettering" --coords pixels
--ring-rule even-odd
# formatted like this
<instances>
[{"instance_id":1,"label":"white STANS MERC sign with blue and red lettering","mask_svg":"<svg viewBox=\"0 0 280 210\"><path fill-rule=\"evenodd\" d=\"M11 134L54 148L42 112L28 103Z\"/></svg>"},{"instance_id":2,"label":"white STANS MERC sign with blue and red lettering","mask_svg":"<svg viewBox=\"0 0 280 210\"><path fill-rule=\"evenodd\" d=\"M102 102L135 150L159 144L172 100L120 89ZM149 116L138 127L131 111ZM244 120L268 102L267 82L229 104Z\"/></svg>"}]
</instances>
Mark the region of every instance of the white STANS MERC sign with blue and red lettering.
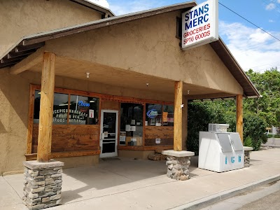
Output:
<instances>
[{"instance_id":1,"label":"white STANS MERC sign with blue and red lettering","mask_svg":"<svg viewBox=\"0 0 280 210\"><path fill-rule=\"evenodd\" d=\"M218 40L218 0L209 0L182 14L182 49Z\"/></svg>"}]
</instances>

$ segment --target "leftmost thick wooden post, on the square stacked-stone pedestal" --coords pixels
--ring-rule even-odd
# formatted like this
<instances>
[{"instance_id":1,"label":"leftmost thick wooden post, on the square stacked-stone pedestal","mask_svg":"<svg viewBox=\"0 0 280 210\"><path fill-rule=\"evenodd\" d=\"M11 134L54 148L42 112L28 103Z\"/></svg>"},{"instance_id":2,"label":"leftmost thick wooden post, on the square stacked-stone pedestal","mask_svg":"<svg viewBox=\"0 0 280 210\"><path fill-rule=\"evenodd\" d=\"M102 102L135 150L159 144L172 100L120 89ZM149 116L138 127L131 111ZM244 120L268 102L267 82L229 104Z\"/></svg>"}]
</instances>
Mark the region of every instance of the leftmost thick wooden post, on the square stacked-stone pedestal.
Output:
<instances>
[{"instance_id":1,"label":"leftmost thick wooden post, on the square stacked-stone pedestal","mask_svg":"<svg viewBox=\"0 0 280 210\"><path fill-rule=\"evenodd\" d=\"M38 162L50 162L52 146L52 110L54 91L55 54L53 54L52 52L44 52L38 132Z\"/></svg>"}]
</instances>

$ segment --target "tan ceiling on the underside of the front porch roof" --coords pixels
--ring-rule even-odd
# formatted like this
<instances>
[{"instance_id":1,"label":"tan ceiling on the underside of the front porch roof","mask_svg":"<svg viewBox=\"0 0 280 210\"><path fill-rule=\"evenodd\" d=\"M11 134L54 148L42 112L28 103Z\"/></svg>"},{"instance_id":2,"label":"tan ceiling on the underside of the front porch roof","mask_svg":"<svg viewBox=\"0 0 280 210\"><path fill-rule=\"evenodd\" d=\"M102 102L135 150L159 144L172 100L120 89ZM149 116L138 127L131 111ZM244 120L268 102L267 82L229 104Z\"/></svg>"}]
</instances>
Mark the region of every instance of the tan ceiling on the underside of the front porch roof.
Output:
<instances>
[{"instance_id":1,"label":"tan ceiling on the underside of the front porch roof","mask_svg":"<svg viewBox=\"0 0 280 210\"><path fill-rule=\"evenodd\" d=\"M42 64L42 62L39 62L28 70L41 72ZM90 73L90 78L87 78L87 72ZM174 80L148 76L146 74L137 73L130 70L118 69L111 66L69 59L66 57L56 57L55 74L57 76L65 76L79 80L90 80L92 82L118 87L169 94L174 93ZM148 83L148 86L146 83ZM218 92L218 90L187 83L184 83L183 94L189 95L190 99L201 99L204 98L203 96L206 94L212 95L214 97L231 97L230 94Z\"/></svg>"}]
</instances>

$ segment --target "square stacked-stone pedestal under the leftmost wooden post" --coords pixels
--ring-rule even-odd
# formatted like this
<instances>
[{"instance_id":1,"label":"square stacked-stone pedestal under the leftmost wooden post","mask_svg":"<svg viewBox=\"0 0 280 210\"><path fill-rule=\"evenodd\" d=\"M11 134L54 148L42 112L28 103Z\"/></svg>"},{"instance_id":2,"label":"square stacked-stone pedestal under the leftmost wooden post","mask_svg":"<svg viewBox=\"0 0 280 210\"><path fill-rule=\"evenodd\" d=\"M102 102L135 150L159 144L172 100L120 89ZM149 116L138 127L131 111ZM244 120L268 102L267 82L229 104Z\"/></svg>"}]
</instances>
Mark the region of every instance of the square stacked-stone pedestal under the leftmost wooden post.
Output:
<instances>
[{"instance_id":1,"label":"square stacked-stone pedestal under the leftmost wooden post","mask_svg":"<svg viewBox=\"0 0 280 210\"><path fill-rule=\"evenodd\" d=\"M22 200L28 209L45 209L61 204L63 162L23 162L25 180Z\"/></svg>"}]
</instances>

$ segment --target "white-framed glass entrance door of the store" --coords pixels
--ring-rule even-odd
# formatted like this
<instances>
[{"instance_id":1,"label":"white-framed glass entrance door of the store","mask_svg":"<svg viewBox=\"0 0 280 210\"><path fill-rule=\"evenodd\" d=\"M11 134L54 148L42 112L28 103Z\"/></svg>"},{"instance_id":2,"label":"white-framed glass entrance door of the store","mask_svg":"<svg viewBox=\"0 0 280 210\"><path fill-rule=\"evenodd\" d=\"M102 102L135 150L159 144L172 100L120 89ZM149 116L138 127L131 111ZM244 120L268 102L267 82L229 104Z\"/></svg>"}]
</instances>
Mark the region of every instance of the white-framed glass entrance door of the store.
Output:
<instances>
[{"instance_id":1,"label":"white-framed glass entrance door of the store","mask_svg":"<svg viewBox=\"0 0 280 210\"><path fill-rule=\"evenodd\" d=\"M102 110L100 125L100 158L118 155L118 111Z\"/></svg>"}]
</instances>

